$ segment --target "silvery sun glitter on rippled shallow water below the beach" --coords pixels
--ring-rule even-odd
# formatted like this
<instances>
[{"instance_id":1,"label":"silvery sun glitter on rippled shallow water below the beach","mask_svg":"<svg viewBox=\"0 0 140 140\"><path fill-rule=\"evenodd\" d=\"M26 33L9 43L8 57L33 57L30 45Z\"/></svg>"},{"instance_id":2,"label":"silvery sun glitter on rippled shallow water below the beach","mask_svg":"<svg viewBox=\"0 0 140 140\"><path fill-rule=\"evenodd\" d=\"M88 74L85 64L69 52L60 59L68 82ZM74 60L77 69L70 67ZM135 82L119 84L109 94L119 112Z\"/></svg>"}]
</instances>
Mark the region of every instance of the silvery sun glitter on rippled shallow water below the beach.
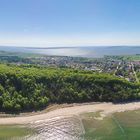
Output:
<instances>
[{"instance_id":1,"label":"silvery sun glitter on rippled shallow water below the beach","mask_svg":"<svg viewBox=\"0 0 140 140\"><path fill-rule=\"evenodd\" d=\"M84 140L84 128L78 117L56 117L32 122L36 134L24 140Z\"/></svg>"}]
</instances>

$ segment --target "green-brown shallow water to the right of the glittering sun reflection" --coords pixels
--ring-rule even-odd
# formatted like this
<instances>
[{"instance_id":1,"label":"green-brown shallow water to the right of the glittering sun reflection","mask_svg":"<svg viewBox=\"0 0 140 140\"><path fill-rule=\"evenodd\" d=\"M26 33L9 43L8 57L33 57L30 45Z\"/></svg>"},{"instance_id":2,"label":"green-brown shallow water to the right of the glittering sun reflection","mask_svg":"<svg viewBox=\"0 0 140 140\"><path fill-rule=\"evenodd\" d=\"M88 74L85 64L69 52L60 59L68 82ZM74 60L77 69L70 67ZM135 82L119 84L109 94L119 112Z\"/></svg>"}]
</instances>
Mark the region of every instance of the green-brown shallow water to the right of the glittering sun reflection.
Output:
<instances>
[{"instance_id":1,"label":"green-brown shallow water to the right of the glittering sun reflection","mask_svg":"<svg viewBox=\"0 0 140 140\"><path fill-rule=\"evenodd\" d=\"M81 116L85 140L140 140L140 111L115 113L103 119L100 112Z\"/></svg>"}]
</instances>

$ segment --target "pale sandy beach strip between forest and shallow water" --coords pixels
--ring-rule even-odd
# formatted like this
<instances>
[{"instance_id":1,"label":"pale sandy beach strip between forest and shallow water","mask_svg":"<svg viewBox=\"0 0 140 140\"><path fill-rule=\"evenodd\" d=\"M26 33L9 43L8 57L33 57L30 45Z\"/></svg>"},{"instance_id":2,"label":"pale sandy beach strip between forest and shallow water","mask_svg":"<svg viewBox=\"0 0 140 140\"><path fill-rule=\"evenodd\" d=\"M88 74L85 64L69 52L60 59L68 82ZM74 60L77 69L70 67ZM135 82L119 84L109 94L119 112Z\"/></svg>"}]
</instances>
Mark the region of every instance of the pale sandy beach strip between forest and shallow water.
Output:
<instances>
[{"instance_id":1,"label":"pale sandy beach strip between forest and shallow water","mask_svg":"<svg viewBox=\"0 0 140 140\"><path fill-rule=\"evenodd\" d=\"M28 116L17 116L17 117L6 117L0 118L1 125L12 125L12 124L30 124L36 121L41 120L50 120L55 117L67 117L80 115L83 113L89 112L97 112L101 111L105 116L108 114L112 114L115 112L124 112L140 109L140 101L139 102L130 102L123 104L113 104L109 103L84 103L84 104L73 104L69 107L62 107L52 111L46 110L46 112L42 111L40 114L36 115L28 115Z\"/></svg>"}]
</instances>

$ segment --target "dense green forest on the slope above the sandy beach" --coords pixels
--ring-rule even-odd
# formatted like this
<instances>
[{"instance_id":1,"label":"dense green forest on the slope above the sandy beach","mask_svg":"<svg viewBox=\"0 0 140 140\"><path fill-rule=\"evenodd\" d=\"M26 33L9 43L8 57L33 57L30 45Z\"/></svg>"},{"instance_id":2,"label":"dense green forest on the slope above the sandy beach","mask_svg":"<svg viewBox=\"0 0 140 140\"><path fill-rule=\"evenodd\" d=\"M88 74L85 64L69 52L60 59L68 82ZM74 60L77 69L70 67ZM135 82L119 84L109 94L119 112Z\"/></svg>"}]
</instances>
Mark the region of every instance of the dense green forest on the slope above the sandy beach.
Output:
<instances>
[{"instance_id":1,"label":"dense green forest on the slope above the sandy beach","mask_svg":"<svg viewBox=\"0 0 140 140\"><path fill-rule=\"evenodd\" d=\"M109 74L0 64L0 112L40 110L53 103L130 101L140 85Z\"/></svg>"}]
</instances>

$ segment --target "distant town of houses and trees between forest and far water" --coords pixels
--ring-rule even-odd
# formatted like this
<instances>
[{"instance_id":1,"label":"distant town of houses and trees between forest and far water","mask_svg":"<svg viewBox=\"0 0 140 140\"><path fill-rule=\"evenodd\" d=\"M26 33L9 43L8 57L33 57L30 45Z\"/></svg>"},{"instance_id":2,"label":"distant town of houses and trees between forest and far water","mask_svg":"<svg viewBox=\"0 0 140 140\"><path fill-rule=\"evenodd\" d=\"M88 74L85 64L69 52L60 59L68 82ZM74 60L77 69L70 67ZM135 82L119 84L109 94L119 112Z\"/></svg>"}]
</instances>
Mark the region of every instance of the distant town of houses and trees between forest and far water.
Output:
<instances>
[{"instance_id":1,"label":"distant town of houses and trees between forest and far water","mask_svg":"<svg viewBox=\"0 0 140 140\"><path fill-rule=\"evenodd\" d=\"M20 56L19 56L20 55ZM104 56L103 58L84 58L71 56L48 56L0 52L1 63L15 65L36 65L43 67L72 68L96 73L109 73L130 82L139 83L140 55Z\"/></svg>"}]
</instances>

